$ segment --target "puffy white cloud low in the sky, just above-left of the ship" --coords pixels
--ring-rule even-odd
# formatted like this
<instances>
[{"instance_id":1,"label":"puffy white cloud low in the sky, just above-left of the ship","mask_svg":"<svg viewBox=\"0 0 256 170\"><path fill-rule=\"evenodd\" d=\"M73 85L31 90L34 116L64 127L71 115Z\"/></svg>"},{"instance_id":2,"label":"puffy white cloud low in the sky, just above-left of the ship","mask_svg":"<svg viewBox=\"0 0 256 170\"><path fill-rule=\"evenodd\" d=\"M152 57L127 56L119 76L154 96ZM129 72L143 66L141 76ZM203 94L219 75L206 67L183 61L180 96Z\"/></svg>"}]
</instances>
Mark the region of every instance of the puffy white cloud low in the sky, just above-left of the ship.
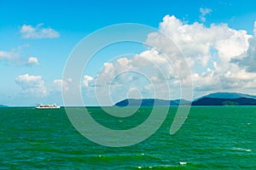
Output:
<instances>
[{"instance_id":1,"label":"puffy white cloud low in the sky, just above-left of the ship","mask_svg":"<svg viewBox=\"0 0 256 170\"><path fill-rule=\"evenodd\" d=\"M41 76L20 75L16 77L15 82L20 86L23 94L37 97L45 97L48 94Z\"/></svg>"}]
</instances>

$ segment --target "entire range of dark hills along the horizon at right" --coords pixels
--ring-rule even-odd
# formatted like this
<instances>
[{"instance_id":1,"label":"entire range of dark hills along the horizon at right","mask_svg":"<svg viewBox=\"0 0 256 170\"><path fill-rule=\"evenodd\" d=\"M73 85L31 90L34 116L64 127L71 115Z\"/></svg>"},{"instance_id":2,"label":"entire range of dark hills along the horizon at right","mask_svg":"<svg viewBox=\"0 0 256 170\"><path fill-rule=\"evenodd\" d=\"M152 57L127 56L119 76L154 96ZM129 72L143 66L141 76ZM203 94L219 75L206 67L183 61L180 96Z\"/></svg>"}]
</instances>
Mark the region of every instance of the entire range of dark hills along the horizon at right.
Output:
<instances>
[{"instance_id":1,"label":"entire range of dark hills along the horizon at right","mask_svg":"<svg viewBox=\"0 0 256 170\"><path fill-rule=\"evenodd\" d=\"M165 99L124 99L115 106L150 106L150 105L256 105L256 96L239 93L214 93L207 94L194 101L185 99L165 100Z\"/></svg>"}]
</instances>

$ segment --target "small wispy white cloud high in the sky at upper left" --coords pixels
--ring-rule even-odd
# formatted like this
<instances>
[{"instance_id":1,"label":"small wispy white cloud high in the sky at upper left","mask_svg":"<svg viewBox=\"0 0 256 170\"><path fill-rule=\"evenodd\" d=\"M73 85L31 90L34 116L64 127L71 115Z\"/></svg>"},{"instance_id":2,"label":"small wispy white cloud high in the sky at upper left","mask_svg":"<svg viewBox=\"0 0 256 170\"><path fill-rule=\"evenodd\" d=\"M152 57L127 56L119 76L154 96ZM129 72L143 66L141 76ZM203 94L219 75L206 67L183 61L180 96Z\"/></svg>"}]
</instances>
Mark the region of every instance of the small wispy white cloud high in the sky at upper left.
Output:
<instances>
[{"instance_id":1,"label":"small wispy white cloud high in the sky at upper left","mask_svg":"<svg viewBox=\"0 0 256 170\"><path fill-rule=\"evenodd\" d=\"M38 24L33 27L30 25L23 25L20 28L20 34L22 38L32 38L32 39L40 39L40 38L55 38L60 37L60 33L55 31L54 29L48 27L42 27L44 24Z\"/></svg>"}]
</instances>

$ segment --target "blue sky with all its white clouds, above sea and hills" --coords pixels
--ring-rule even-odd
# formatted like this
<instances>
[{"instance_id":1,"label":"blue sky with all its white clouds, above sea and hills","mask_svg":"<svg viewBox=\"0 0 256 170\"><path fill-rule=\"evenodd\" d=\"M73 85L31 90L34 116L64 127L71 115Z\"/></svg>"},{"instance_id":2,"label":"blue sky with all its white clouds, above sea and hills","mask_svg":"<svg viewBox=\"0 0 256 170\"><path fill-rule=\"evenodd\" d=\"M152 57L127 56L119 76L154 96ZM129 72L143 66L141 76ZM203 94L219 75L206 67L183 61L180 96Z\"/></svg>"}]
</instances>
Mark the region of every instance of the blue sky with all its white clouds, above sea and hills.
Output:
<instances>
[{"instance_id":1,"label":"blue sky with all its white clouds, above sea and hills","mask_svg":"<svg viewBox=\"0 0 256 170\"><path fill-rule=\"evenodd\" d=\"M62 94L73 88L81 89L84 105L113 105L128 97L179 99L180 84L185 99L191 84L192 99L214 92L256 94L253 0L0 0L0 15L0 105L63 105ZM166 59L159 49L169 56L177 51L162 35L148 32L144 42L158 49L115 43L90 59L79 84L63 77L84 37L123 23L153 27L182 56Z\"/></svg>"}]
</instances>

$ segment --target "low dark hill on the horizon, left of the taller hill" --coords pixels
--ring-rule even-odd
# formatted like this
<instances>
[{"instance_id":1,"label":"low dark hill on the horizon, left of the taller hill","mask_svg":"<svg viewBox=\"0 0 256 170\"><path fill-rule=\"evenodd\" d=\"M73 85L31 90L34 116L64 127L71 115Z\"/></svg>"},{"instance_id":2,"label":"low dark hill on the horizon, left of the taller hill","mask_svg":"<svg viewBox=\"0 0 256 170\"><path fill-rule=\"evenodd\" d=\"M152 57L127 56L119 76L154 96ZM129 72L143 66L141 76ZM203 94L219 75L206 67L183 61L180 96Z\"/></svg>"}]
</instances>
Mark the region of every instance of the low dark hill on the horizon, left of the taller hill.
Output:
<instances>
[{"instance_id":1,"label":"low dark hill on the horizon, left of the taller hill","mask_svg":"<svg viewBox=\"0 0 256 170\"><path fill-rule=\"evenodd\" d=\"M150 106L150 105L188 105L191 102L185 99L165 100L165 99L124 99L116 103L116 106Z\"/></svg>"}]
</instances>

